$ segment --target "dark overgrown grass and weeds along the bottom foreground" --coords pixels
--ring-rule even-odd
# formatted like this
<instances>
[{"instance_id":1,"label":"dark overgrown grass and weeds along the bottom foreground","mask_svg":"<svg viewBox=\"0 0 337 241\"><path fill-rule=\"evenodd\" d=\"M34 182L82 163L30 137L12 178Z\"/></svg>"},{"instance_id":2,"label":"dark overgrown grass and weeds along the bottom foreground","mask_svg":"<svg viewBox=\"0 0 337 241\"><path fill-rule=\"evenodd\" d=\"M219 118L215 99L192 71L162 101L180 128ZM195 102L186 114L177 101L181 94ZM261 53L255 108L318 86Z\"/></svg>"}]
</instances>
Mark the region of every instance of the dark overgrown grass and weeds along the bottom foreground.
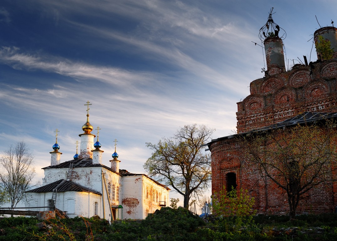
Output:
<instances>
[{"instance_id":1,"label":"dark overgrown grass and weeds along the bottom foreground","mask_svg":"<svg viewBox=\"0 0 337 241\"><path fill-rule=\"evenodd\" d=\"M85 241L238 241L238 240L337 240L337 215L288 216L256 215L253 221L228 228L233 220L203 220L186 209L162 208L145 220L106 220L93 218L51 219L39 228L36 218L3 218L1 240L85 240Z\"/></svg>"}]
</instances>

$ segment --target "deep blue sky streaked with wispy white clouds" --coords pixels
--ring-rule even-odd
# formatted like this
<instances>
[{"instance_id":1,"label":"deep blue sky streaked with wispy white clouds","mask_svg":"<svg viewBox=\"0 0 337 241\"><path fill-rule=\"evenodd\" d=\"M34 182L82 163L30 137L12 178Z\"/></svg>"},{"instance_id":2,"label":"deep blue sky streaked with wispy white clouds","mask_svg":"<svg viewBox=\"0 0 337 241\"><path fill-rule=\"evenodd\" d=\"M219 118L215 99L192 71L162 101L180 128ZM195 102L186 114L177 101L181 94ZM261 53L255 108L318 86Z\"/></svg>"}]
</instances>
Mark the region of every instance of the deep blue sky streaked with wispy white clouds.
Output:
<instances>
[{"instance_id":1,"label":"deep blue sky streaked with wispy white clouds","mask_svg":"<svg viewBox=\"0 0 337 241\"><path fill-rule=\"evenodd\" d=\"M263 77L263 49L252 42L261 45L272 7L286 66L316 60L311 38L337 21L335 0L2 0L0 152L25 141L40 180L56 128L61 162L72 159L88 100L103 164L116 138L130 172L144 172L146 142L184 125L232 134L236 103Z\"/></svg>"}]
</instances>

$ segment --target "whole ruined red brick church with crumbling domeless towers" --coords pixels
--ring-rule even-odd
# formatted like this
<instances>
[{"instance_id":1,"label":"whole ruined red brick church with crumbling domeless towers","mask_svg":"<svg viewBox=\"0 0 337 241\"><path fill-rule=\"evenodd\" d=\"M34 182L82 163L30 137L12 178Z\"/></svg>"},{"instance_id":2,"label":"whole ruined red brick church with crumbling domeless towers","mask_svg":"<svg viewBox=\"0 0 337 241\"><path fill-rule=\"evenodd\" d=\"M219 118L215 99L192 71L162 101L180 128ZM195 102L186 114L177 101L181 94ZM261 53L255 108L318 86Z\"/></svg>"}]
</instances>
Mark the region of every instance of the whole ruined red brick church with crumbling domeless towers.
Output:
<instances>
[{"instance_id":1,"label":"whole ruined red brick church with crumbling domeless towers","mask_svg":"<svg viewBox=\"0 0 337 241\"><path fill-rule=\"evenodd\" d=\"M263 32L267 27L267 33ZM272 28L274 27L275 32ZM314 41L319 36L329 40L333 49L332 58L325 60L317 51L318 60L295 64L286 71L283 55L282 30L274 24L271 15L261 28L265 46L267 71L265 77L250 83L250 95L238 102L237 134L213 139L208 143L212 158L212 193L231 187L243 188L255 198L254 208L258 213L284 213L288 211L285 192L269 183L262 183L257 169L252 169L247 158L238 150L237 135L259 129L268 129L278 123L289 123L326 115L337 116L337 28L323 27L314 32ZM267 35L267 36L266 36ZM318 114L319 113L319 114ZM298 206L298 212L333 212L337 205L337 185L312 189Z\"/></svg>"}]
</instances>

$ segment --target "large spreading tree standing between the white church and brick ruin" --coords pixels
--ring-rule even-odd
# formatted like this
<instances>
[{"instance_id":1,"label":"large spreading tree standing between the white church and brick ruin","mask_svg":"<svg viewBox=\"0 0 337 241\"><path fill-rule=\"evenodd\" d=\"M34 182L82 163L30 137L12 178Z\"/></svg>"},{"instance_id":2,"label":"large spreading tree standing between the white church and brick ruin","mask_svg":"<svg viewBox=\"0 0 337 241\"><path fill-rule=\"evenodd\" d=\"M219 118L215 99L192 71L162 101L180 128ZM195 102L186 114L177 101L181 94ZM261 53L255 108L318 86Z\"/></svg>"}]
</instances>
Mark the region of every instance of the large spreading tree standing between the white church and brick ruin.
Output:
<instances>
[{"instance_id":1,"label":"large spreading tree standing between the white church and brick ruin","mask_svg":"<svg viewBox=\"0 0 337 241\"><path fill-rule=\"evenodd\" d=\"M188 208L192 195L201 195L210 183L211 158L202 145L213 132L204 125L186 125L171 138L146 143L154 152L144 164L145 170L183 195L184 208Z\"/></svg>"}]
</instances>

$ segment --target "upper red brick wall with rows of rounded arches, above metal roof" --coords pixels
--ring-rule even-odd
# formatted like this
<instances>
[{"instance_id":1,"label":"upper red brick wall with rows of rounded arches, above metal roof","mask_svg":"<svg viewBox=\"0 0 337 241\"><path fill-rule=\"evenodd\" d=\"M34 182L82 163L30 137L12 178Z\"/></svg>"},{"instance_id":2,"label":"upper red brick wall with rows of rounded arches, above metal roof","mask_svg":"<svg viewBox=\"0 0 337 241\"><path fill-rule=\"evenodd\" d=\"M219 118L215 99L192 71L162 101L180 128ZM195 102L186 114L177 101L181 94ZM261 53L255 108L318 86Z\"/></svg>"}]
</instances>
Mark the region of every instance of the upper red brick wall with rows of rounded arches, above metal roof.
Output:
<instances>
[{"instance_id":1,"label":"upper red brick wall with rows of rounded arches, above metal roof","mask_svg":"<svg viewBox=\"0 0 337 241\"><path fill-rule=\"evenodd\" d=\"M337 61L296 66L250 84L250 95L238 102L238 133L278 123L304 111L337 112Z\"/></svg>"}]
</instances>

